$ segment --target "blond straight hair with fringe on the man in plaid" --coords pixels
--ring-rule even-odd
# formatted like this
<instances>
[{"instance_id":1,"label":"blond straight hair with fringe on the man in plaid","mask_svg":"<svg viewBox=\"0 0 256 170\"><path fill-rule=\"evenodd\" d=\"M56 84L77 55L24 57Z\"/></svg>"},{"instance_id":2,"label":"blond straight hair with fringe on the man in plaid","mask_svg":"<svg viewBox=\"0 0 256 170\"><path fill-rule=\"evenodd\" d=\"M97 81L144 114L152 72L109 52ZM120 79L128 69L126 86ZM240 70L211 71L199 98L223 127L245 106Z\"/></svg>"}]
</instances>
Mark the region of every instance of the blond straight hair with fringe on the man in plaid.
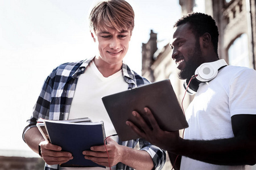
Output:
<instances>
[{"instance_id":1,"label":"blond straight hair with fringe on the man in plaid","mask_svg":"<svg viewBox=\"0 0 256 170\"><path fill-rule=\"evenodd\" d=\"M109 0L98 3L89 15L90 30L105 30L106 27L117 31L133 31L134 11L124 0Z\"/></svg>"}]
</instances>

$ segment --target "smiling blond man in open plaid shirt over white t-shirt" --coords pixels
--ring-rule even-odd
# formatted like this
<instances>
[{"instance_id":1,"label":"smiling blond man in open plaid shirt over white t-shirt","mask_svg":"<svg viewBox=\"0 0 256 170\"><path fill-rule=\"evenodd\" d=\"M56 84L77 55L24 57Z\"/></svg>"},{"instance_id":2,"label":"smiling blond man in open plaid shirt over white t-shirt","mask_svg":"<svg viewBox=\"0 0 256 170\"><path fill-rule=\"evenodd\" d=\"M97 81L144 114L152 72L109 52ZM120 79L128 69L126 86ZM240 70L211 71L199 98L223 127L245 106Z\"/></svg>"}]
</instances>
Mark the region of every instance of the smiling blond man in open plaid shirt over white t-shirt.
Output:
<instances>
[{"instance_id":1,"label":"smiling blond man in open plaid shirt over white t-shirt","mask_svg":"<svg viewBox=\"0 0 256 170\"><path fill-rule=\"evenodd\" d=\"M123 0L100 2L92 9L89 20L90 33L98 46L96 56L64 63L52 71L23 131L24 141L46 162L45 169L101 168L60 167L73 156L61 151L60 146L44 141L35 126L39 117L50 120L89 117L92 121L104 121L106 136L112 135L116 132L101 97L149 83L123 63L134 28L134 11L129 3ZM140 150L134 149L138 142ZM110 164L112 169L162 169L166 162L165 152L143 139L122 142L118 137L111 137L107 143L110 162L105 146L94 146L82 154L97 164L106 167Z\"/></svg>"}]
</instances>

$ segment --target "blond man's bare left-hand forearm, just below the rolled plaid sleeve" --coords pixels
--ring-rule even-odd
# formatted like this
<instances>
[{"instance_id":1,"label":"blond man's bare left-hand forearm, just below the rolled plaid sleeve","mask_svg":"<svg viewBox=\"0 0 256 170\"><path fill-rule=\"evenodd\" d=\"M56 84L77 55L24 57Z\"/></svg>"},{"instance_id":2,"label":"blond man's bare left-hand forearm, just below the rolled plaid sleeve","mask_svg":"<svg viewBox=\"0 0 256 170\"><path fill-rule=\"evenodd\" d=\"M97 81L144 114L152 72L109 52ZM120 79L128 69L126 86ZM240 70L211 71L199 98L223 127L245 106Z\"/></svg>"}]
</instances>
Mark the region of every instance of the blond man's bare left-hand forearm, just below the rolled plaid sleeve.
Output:
<instances>
[{"instance_id":1,"label":"blond man's bare left-hand forearm, just below the rolled plaid sleeve","mask_svg":"<svg viewBox=\"0 0 256 170\"><path fill-rule=\"evenodd\" d=\"M40 142L44 141L44 138L38 128L34 127L26 132L24 140L34 152L38 153L38 145Z\"/></svg>"}]
</instances>

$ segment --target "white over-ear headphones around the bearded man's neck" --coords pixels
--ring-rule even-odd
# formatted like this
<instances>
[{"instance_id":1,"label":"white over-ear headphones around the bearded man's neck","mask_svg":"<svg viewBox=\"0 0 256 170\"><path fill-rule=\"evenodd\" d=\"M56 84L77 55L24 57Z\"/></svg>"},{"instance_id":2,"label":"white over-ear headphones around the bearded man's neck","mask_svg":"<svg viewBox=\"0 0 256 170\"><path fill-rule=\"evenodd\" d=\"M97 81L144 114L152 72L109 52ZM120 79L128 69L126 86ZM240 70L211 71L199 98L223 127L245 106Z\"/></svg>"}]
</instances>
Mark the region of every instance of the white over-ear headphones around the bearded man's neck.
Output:
<instances>
[{"instance_id":1,"label":"white over-ear headphones around the bearded man's neck","mask_svg":"<svg viewBox=\"0 0 256 170\"><path fill-rule=\"evenodd\" d=\"M199 67L197 67L195 77L192 78L191 82L189 83L190 79L185 80L183 84L184 88L187 89L188 94L196 94L200 83L209 82L210 80L214 79L218 74L218 70L227 65L228 64L224 59L218 59L217 61L205 62L201 64Z\"/></svg>"}]
</instances>

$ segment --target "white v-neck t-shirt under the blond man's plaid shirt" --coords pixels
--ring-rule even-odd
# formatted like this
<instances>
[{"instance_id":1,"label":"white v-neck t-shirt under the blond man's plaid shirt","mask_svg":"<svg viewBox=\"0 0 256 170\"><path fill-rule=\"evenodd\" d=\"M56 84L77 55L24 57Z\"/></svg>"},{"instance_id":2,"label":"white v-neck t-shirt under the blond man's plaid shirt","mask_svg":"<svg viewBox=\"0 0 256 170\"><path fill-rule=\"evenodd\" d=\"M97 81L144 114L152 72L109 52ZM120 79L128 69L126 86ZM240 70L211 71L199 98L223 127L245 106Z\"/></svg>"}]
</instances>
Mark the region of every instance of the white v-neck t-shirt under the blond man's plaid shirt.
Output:
<instances>
[{"instance_id":1,"label":"white v-neck t-shirt under the blond man's plaid shirt","mask_svg":"<svg viewBox=\"0 0 256 170\"><path fill-rule=\"evenodd\" d=\"M75 90L75 95L72 100L71 109L68 119L89 117L93 122L104 121L106 137L116 134L114 126L109 118L108 113L102 103L101 97L125 91L128 89L128 83L123 79L122 70L117 73L104 77L98 71L94 62L90 62L86 67L85 73L81 74ZM117 142L117 137L111 137ZM100 167L86 168L61 168L64 170L96 170L109 169ZM115 166L112 167L115 169Z\"/></svg>"}]
</instances>

